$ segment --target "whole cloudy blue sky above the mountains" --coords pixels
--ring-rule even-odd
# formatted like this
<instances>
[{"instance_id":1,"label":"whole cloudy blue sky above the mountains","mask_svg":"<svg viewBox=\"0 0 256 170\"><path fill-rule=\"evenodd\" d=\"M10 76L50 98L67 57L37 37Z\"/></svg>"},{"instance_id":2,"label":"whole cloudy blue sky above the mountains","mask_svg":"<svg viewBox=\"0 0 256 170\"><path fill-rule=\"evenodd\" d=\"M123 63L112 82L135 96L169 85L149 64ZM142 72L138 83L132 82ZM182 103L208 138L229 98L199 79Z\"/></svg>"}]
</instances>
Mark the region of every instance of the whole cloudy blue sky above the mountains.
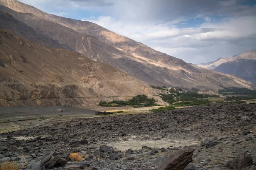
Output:
<instances>
[{"instance_id":1,"label":"whole cloudy blue sky above the mountains","mask_svg":"<svg viewBox=\"0 0 256 170\"><path fill-rule=\"evenodd\" d=\"M198 64L256 48L256 0L20 0Z\"/></svg>"}]
</instances>

